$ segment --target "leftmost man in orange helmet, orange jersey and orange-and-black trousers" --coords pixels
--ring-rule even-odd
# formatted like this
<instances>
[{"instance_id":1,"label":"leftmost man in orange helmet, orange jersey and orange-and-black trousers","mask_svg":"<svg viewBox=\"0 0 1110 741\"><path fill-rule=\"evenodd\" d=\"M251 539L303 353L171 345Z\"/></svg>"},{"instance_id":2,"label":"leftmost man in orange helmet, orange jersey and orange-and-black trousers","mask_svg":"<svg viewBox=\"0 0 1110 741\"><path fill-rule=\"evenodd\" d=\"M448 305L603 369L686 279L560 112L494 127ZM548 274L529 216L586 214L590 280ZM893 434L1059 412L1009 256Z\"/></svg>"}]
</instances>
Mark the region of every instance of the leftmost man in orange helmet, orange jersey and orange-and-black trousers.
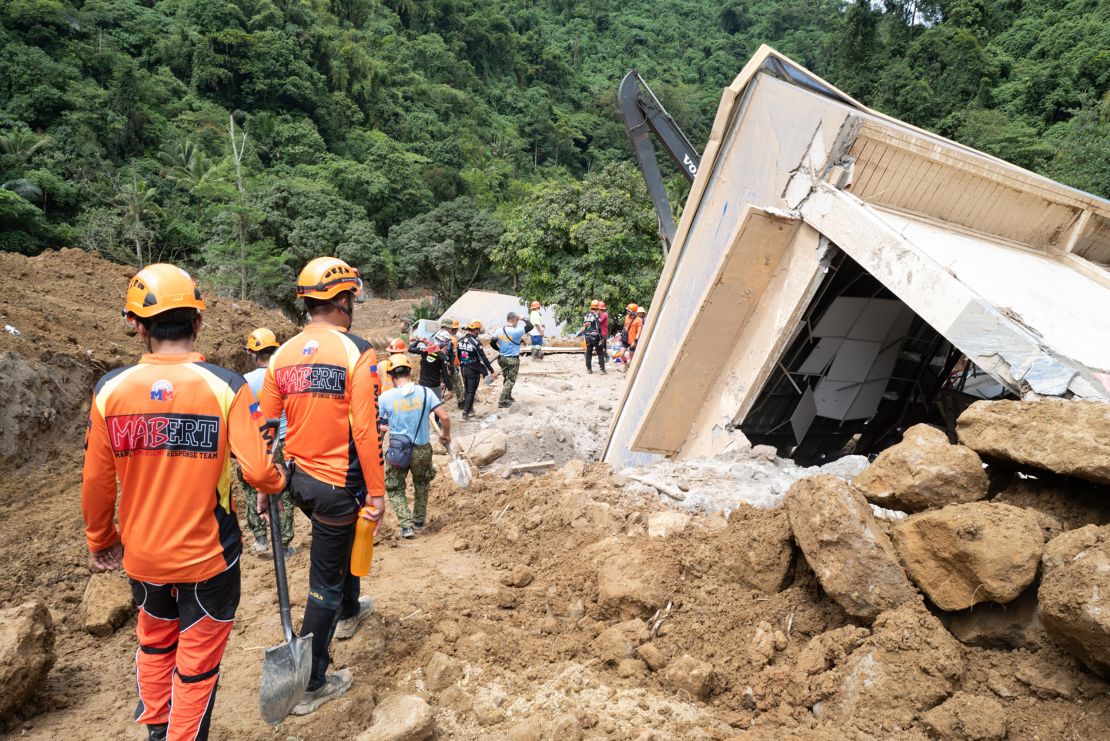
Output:
<instances>
[{"instance_id":1,"label":"leftmost man in orange helmet, orange jersey and orange-and-black trousers","mask_svg":"<svg viewBox=\"0 0 1110 741\"><path fill-rule=\"evenodd\" d=\"M93 390L85 538L95 568L122 562L139 606L135 722L150 739L208 739L239 607L231 454L264 494L281 491L285 477L266 455L266 420L246 382L193 352L204 301L189 274L148 265L131 278L125 302L149 353Z\"/></svg>"}]
</instances>

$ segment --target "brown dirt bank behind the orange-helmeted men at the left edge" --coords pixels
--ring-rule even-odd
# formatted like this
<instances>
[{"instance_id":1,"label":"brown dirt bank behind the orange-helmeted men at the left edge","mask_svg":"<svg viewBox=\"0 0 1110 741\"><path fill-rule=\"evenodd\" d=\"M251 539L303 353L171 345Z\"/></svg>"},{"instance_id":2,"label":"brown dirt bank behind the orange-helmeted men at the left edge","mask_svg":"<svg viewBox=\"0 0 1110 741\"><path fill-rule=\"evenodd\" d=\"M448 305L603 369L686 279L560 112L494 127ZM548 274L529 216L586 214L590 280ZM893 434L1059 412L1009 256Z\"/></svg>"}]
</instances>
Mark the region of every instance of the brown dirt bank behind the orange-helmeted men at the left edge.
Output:
<instances>
[{"instance_id":1,"label":"brown dirt bank behind the orange-helmeted men at the left edge","mask_svg":"<svg viewBox=\"0 0 1110 741\"><path fill-rule=\"evenodd\" d=\"M81 250L0 253L0 325L18 333L0 332L0 467L41 464L80 439L97 378L142 354L121 315L133 272ZM249 370L252 328L293 333L275 309L204 293L198 349L211 363Z\"/></svg>"}]
</instances>

